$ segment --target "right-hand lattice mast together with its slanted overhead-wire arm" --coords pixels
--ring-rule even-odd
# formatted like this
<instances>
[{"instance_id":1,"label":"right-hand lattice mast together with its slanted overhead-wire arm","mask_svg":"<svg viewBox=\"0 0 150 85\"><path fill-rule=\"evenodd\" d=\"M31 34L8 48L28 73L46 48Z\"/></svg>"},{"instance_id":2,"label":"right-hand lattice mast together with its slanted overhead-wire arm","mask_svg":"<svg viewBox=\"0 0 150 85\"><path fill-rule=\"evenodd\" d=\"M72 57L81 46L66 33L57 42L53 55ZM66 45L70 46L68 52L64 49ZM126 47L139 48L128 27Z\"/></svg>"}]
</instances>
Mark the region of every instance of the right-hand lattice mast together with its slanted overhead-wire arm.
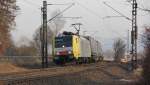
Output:
<instances>
[{"instance_id":1,"label":"right-hand lattice mast together with its slanted overhead-wire arm","mask_svg":"<svg viewBox=\"0 0 150 85\"><path fill-rule=\"evenodd\" d=\"M119 11L117 11L116 9L111 7L106 2L104 2L104 4L108 7L110 7L112 10L114 10L119 15L121 15L119 17L125 17L127 20L132 21L132 30L131 30L131 56L132 56L131 61L132 62L131 62L131 65L132 65L132 70L133 70L137 67L137 37L138 37L137 36L138 35L138 28L137 28L137 8L138 8L138 6L137 6L137 1L132 0L132 19L130 19L129 17L127 17L124 14L120 13ZM109 17L110 16L108 16L108 18Z\"/></svg>"}]
</instances>

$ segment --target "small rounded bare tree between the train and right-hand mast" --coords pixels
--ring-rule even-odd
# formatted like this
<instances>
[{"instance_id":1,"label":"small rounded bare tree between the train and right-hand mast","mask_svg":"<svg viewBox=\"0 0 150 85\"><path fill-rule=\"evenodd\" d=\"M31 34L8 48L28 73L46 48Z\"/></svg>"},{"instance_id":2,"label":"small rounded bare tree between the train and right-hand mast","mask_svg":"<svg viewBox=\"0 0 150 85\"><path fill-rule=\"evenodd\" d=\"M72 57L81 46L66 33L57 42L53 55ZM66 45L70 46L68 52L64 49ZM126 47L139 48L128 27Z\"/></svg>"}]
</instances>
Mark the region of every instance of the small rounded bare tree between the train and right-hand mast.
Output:
<instances>
[{"instance_id":1,"label":"small rounded bare tree between the train and right-hand mast","mask_svg":"<svg viewBox=\"0 0 150 85\"><path fill-rule=\"evenodd\" d=\"M114 59L116 62L119 62L120 59L125 54L126 50L125 42L121 38L116 39L113 44L113 49L114 49Z\"/></svg>"}]
</instances>

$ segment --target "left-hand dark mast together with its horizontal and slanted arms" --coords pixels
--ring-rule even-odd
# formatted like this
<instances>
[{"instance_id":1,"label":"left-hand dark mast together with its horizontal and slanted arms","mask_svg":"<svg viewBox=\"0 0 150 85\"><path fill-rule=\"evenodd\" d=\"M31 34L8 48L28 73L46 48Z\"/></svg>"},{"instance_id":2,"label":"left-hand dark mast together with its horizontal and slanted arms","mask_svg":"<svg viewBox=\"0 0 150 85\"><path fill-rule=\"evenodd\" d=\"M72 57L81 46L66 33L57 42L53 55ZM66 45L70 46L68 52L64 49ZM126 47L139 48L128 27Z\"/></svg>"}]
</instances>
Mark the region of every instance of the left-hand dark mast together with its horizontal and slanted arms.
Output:
<instances>
[{"instance_id":1,"label":"left-hand dark mast together with its horizontal and slanted arms","mask_svg":"<svg viewBox=\"0 0 150 85\"><path fill-rule=\"evenodd\" d=\"M42 56L42 68L48 67L48 42L47 42L47 23L51 22L53 19L55 19L57 16L62 14L63 12L67 11L69 8L71 8L74 3L72 3L69 7L64 9L62 12L58 13L51 19L47 20L47 6L48 5L64 5L64 4L47 4L47 1L43 1L43 7L42 7L42 28L40 29L40 38L41 38L41 56Z\"/></svg>"}]
</instances>

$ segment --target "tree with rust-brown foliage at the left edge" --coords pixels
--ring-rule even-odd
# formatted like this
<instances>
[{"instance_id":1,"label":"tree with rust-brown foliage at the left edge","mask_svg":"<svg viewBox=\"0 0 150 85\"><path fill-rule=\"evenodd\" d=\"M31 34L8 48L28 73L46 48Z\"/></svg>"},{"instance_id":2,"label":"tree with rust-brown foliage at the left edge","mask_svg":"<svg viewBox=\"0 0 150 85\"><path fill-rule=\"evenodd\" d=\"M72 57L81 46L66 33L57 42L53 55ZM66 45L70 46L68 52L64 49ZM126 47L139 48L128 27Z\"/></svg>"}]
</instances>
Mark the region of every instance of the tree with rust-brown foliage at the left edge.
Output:
<instances>
[{"instance_id":1,"label":"tree with rust-brown foliage at the left edge","mask_svg":"<svg viewBox=\"0 0 150 85\"><path fill-rule=\"evenodd\" d=\"M0 0L0 55L12 43L10 31L15 25L16 10L16 0Z\"/></svg>"}]
</instances>

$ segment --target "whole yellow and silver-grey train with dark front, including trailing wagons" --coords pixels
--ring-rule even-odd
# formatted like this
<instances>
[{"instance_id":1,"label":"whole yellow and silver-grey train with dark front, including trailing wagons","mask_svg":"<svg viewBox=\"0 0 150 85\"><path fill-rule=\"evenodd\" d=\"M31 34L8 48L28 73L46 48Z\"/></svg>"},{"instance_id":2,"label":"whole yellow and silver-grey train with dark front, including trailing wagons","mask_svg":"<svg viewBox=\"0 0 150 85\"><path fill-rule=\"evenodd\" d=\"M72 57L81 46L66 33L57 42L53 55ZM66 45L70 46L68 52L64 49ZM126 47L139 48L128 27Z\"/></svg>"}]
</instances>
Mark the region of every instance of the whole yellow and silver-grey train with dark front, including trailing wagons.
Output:
<instances>
[{"instance_id":1,"label":"whole yellow and silver-grey train with dark front, including trailing wagons","mask_svg":"<svg viewBox=\"0 0 150 85\"><path fill-rule=\"evenodd\" d=\"M100 42L90 36L63 32L53 40L53 62L90 63L103 59Z\"/></svg>"}]
</instances>

